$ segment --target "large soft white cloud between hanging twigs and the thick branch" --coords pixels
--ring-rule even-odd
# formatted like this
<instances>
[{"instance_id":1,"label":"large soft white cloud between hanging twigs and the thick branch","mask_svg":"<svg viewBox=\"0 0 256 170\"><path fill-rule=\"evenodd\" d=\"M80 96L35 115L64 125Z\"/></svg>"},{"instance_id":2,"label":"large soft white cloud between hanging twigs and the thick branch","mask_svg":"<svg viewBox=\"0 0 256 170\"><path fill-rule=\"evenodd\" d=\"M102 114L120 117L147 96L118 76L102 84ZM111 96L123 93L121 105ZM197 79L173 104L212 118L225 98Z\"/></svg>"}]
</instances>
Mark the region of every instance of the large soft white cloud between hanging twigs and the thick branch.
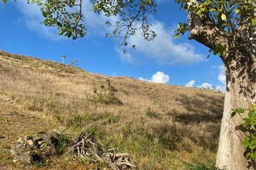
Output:
<instances>
[{"instance_id":1,"label":"large soft white cloud between hanging twigs and the thick branch","mask_svg":"<svg viewBox=\"0 0 256 170\"><path fill-rule=\"evenodd\" d=\"M198 63L203 60L203 56L195 51L194 46L185 42L176 43L173 38L174 31L166 29L161 22L154 22L151 29L157 32L154 41L146 41L139 32L128 39L129 44L136 45L136 52L143 53L164 64Z\"/></svg>"}]
</instances>

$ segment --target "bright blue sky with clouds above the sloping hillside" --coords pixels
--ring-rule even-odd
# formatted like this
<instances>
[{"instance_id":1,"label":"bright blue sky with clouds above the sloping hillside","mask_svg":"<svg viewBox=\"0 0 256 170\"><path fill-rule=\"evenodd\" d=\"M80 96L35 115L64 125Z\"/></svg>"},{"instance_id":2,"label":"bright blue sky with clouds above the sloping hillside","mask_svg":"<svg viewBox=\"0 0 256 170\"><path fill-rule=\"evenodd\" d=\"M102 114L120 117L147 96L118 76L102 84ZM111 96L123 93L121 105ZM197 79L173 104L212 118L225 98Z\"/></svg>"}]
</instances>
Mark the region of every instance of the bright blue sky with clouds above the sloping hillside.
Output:
<instances>
[{"instance_id":1,"label":"bright blue sky with clouds above the sloping hillside","mask_svg":"<svg viewBox=\"0 0 256 170\"><path fill-rule=\"evenodd\" d=\"M157 15L152 29L157 32L153 42L146 42L138 32L129 39L137 49L120 53L119 39L106 38L110 28L106 18L92 12L92 4L84 0L83 8L88 36L71 40L57 36L53 28L40 24L38 8L26 0L0 5L0 49L66 63L78 60L77 66L91 73L109 76L131 76L171 85L223 88L225 76L218 56L208 56L208 48L188 40L188 35L173 38L179 22L186 22L185 11L180 11L174 0L158 0ZM111 20L115 20L114 18Z\"/></svg>"}]
</instances>

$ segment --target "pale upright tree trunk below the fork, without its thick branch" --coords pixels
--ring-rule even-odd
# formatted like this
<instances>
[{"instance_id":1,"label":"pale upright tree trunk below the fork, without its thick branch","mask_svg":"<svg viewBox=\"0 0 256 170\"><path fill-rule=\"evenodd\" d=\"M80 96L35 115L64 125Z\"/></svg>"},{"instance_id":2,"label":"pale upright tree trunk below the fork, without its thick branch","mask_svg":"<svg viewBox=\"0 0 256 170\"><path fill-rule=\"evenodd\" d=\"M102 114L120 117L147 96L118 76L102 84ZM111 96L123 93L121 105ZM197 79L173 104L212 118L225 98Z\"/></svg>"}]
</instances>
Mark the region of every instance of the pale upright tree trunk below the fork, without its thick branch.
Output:
<instances>
[{"instance_id":1,"label":"pale upright tree trunk below the fork, without its thick branch","mask_svg":"<svg viewBox=\"0 0 256 170\"><path fill-rule=\"evenodd\" d=\"M244 133L238 128L242 123L242 118L239 115L231 118L232 110L238 107L247 108L250 103L255 104L255 63L252 62L249 66L251 68L242 67L240 71L234 69L231 71L232 66L227 68L227 91L216 158L216 168L218 169L254 169L247 167L247 160L244 158L245 149L241 144Z\"/></svg>"}]
</instances>

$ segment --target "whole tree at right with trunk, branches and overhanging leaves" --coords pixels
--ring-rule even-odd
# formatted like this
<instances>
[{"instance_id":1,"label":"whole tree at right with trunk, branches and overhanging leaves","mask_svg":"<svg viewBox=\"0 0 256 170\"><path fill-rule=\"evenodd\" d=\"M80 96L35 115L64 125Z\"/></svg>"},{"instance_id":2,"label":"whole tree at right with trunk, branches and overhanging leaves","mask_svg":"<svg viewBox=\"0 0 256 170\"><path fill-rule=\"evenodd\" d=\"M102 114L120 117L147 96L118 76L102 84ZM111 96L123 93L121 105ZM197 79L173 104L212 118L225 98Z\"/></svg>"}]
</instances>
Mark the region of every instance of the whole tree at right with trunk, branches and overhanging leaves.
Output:
<instances>
[{"instance_id":1,"label":"whole tree at right with trunk, branches and overhanging leaves","mask_svg":"<svg viewBox=\"0 0 256 170\"><path fill-rule=\"evenodd\" d=\"M6 0L2 0L6 2ZM82 0L28 0L40 6L46 26L56 26L59 34L77 39L86 35ZM256 2L254 0L175 0L188 14L188 23L180 23L175 37L189 31L195 39L218 54L226 66L227 91L220 131L216 167L247 169L239 131L240 117L231 119L237 107L256 104ZM156 32L150 29L150 15L156 12L154 0L95 0L94 11L119 19L116 29L107 36L123 35L126 39L141 31L147 40ZM111 24L106 22L106 24ZM135 45L132 45L134 48ZM255 168L255 167L254 167Z\"/></svg>"}]
</instances>

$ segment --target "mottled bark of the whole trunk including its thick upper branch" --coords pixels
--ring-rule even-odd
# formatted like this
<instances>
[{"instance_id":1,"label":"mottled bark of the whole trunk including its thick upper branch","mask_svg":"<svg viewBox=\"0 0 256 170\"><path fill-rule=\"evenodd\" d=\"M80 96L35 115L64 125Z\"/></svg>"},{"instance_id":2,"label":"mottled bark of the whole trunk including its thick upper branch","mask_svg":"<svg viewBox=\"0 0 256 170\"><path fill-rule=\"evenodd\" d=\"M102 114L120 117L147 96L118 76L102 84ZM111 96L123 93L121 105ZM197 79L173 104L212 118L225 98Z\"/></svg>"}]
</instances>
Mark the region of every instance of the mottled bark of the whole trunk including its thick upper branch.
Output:
<instances>
[{"instance_id":1,"label":"mottled bark of the whole trunk including its thick upper branch","mask_svg":"<svg viewBox=\"0 0 256 170\"><path fill-rule=\"evenodd\" d=\"M232 110L249 104L256 104L256 28L244 25L240 29L236 48L234 41L227 39L226 32L220 31L207 17L198 15L196 8L199 4L196 0L189 2L192 10L187 10L189 18L189 39L216 49L216 46L227 47L227 52L220 58L227 68L227 91L225 93L223 119L220 131L220 143L216 158L216 168L227 170L254 169L247 167L247 160L244 158L244 147L241 141L244 134L239 130L242 118L232 117Z\"/></svg>"}]
</instances>

